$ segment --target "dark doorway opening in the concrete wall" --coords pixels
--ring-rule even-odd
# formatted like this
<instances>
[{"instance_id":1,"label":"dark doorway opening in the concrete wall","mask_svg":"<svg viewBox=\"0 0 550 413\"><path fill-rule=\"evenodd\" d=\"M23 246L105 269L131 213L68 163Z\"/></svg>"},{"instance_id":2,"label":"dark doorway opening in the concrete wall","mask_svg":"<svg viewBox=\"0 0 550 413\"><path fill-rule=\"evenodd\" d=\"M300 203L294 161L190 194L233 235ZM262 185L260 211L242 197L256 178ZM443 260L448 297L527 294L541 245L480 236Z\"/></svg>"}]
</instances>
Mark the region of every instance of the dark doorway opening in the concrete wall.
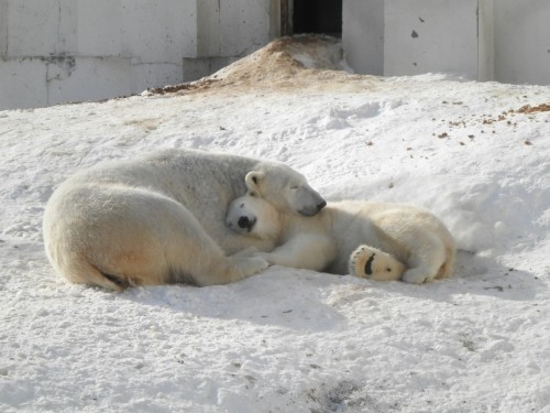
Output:
<instances>
[{"instance_id":1,"label":"dark doorway opening in the concrete wall","mask_svg":"<svg viewBox=\"0 0 550 413\"><path fill-rule=\"evenodd\" d=\"M342 36L342 0L294 0L293 33Z\"/></svg>"}]
</instances>

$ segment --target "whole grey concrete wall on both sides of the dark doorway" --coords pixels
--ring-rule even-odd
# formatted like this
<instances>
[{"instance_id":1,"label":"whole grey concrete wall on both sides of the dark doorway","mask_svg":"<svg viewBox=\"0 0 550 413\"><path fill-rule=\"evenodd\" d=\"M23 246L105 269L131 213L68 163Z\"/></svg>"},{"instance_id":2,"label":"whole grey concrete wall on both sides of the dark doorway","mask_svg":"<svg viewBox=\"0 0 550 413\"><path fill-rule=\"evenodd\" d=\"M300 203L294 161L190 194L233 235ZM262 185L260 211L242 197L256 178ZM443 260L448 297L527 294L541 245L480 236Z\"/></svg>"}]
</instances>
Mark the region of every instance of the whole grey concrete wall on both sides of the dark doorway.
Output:
<instances>
[{"instance_id":1,"label":"whole grey concrete wall on both sides of the dark doorway","mask_svg":"<svg viewBox=\"0 0 550 413\"><path fill-rule=\"evenodd\" d=\"M288 4L0 0L0 110L197 79L276 37ZM358 73L550 84L548 0L343 0L342 20Z\"/></svg>"}]
</instances>

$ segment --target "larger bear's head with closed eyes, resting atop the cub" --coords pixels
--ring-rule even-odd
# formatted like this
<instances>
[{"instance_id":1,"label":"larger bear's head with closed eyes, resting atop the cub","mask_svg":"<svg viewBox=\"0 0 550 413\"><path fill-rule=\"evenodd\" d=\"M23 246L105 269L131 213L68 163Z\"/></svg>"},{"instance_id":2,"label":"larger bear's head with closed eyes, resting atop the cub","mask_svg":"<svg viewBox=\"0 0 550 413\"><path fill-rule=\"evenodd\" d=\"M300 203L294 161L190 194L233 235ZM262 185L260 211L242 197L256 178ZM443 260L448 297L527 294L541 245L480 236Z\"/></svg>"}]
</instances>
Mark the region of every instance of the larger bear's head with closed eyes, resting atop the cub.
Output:
<instances>
[{"instance_id":1,"label":"larger bear's head with closed eyes, resting atop the cub","mask_svg":"<svg viewBox=\"0 0 550 413\"><path fill-rule=\"evenodd\" d=\"M327 205L302 175L283 164L249 172L245 184L249 194L267 200L280 213L311 217Z\"/></svg>"}]
</instances>

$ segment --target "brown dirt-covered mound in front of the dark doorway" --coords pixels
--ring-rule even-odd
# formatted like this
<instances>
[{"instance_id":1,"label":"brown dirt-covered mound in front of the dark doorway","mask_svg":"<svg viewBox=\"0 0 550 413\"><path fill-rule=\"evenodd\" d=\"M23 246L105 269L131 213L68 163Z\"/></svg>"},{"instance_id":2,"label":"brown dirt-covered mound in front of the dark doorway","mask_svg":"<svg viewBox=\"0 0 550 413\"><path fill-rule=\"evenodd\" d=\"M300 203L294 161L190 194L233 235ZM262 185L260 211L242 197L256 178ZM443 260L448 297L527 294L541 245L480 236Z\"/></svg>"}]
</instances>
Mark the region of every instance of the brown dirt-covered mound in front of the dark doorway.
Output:
<instances>
[{"instance_id":1,"label":"brown dirt-covered mound in front of the dark doorway","mask_svg":"<svg viewBox=\"0 0 550 413\"><path fill-rule=\"evenodd\" d=\"M152 94L188 94L208 89L350 89L370 88L380 79L345 72L339 39L298 35L265 47L199 80L152 89Z\"/></svg>"}]
</instances>

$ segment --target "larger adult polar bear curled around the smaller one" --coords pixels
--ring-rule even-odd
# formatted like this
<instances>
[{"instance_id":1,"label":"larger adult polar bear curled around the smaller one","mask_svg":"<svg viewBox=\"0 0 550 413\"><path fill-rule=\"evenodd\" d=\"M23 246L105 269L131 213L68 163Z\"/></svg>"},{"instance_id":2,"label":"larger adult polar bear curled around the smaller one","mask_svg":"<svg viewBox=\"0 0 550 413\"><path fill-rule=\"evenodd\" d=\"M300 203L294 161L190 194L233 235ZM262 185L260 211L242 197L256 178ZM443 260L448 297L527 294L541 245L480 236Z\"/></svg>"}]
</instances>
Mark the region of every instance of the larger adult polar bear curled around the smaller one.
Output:
<instances>
[{"instance_id":1,"label":"larger adult polar bear curled around the smaller one","mask_svg":"<svg viewBox=\"0 0 550 413\"><path fill-rule=\"evenodd\" d=\"M100 164L65 181L44 213L46 253L67 280L114 291L250 276L267 263L235 252L265 251L268 243L228 229L224 217L229 203L252 184L289 215L312 216L326 205L282 163L170 150Z\"/></svg>"}]
</instances>

